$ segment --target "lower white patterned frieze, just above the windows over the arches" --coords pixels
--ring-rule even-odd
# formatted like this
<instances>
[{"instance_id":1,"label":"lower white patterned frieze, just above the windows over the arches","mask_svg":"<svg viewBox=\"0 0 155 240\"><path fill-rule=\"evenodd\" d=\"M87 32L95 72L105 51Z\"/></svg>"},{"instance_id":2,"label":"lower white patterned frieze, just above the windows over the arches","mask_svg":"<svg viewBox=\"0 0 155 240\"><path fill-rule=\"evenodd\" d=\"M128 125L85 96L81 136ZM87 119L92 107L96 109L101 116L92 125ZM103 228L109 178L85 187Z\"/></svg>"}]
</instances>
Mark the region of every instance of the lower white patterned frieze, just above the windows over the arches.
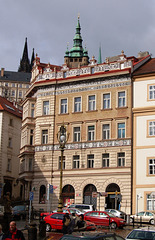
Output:
<instances>
[{"instance_id":1,"label":"lower white patterned frieze, just above the windows over the arches","mask_svg":"<svg viewBox=\"0 0 155 240\"><path fill-rule=\"evenodd\" d=\"M120 147L120 146L131 146L131 139L123 140L111 140L102 142L84 142L84 143L68 143L65 149L76 150L76 149L87 149L87 148L107 148L107 147ZM48 146L36 146L36 152L60 150L59 145L48 145Z\"/></svg>"}]
</instances>

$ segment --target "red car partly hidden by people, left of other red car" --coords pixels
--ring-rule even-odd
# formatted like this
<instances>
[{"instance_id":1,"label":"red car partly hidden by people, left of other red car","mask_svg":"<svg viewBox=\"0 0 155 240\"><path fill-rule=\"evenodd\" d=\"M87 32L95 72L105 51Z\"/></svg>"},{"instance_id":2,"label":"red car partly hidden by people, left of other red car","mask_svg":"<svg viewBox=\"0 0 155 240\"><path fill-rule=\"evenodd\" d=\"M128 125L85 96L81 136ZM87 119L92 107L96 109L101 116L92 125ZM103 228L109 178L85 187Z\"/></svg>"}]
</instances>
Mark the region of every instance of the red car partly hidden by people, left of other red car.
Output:
<instances>
[{"instance_id":1,"label":"red car partly hidden by people, left of other red car","mask_svg":"<svg viewBox=\"0 0 155 240\"><path fill-rule=\"evenodd\" d=\"M46 222L46 232L50 232L51 229L62 230L62 220L65 213L51 213L48 216L44 217L44 221ZM86 221L86 231L96 230L96 226L92 222Z\"/></svg>"}]
</instances>

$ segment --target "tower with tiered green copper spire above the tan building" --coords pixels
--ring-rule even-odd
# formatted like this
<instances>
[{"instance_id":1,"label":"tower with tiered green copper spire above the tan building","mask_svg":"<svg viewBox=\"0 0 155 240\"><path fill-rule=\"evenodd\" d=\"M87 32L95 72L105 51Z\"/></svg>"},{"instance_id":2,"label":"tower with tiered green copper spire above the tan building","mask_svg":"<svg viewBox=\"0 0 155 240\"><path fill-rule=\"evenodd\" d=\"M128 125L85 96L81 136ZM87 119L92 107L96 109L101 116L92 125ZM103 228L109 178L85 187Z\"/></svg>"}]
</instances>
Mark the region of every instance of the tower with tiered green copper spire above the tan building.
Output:
<instances>
[{"instance_id":1,"label":"tower with tiered green copper spire above the tan building","mask_svg":"<svg viewBox=\"0 0 155 240\"><path fill-rule=\"evenodd\" d=\"M82 41L80 20L78 17L76 33L73 39L73 47L69 51L67 46L67 51L64 56L64 63L67 64L69 68L77 68L79 66L88 65L89 63L88 51L83 49Z\"/></svg>"}]
</instances>

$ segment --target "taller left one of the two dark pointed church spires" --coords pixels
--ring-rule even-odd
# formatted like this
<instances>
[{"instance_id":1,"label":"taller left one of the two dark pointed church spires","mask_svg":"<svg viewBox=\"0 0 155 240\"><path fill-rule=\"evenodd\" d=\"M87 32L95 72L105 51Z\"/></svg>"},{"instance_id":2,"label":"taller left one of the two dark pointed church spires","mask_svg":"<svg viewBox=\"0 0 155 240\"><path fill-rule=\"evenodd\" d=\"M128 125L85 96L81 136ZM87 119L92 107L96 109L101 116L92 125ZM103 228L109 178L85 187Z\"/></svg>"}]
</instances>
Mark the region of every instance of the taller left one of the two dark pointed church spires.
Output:
<instances>
[{"instance_id":1,"label":"taller left one of the two dark pointed church spires","mask_svg":"<svg viewBox=\"0 0 155 240\"><path fill-rule=\"evenodd\" d=\"M31 64L28 58L27 38L25 39L25 46L22 59L20 60L20 66L18 72L31 72Z\"/></svg>"}]
</instances>

